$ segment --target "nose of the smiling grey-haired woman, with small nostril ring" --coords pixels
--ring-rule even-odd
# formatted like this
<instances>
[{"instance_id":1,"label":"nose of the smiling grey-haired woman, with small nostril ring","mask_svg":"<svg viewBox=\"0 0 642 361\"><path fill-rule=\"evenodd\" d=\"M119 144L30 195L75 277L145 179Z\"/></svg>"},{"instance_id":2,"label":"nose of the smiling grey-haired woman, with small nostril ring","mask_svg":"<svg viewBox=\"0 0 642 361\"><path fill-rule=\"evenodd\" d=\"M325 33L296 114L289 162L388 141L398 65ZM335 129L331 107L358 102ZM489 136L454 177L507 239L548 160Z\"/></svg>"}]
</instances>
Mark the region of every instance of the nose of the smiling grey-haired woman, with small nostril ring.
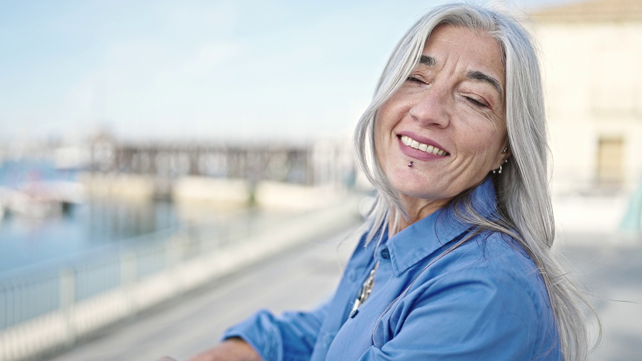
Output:
<instances>
[{"instance_id":1,"label":"nose of the smiling grey-haired woman, with small nostril ring","mask_svg":"<svg viewBox=\"0 0 642 361\"><path fill-rule=\"evenodd\" d=\"M432 87L413 105L408 114L422 127L446 128L450 123L451 106L447 92Z\"/></svg>"}]
</instances>

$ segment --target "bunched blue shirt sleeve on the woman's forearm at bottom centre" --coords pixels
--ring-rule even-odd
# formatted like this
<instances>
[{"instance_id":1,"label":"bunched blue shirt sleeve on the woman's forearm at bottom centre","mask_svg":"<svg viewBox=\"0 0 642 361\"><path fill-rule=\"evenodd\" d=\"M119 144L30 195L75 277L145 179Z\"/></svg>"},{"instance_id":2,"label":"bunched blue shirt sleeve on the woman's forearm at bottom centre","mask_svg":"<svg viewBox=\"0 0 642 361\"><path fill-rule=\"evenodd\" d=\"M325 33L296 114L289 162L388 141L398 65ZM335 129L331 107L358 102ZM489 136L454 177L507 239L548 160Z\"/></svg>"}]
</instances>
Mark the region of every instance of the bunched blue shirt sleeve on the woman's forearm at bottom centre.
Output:
<instances>
[{"instance_id":1,"label":"bunched blue shirt sleeve on the woman's forearm at bottom centre","mask_svg":"<svg viewBox=\"0 0 642 361\"><path fill-rule=\"evenodd\" d=\"M275 317L267 310L254 313L229 328L221 339L239 337L265 361L309 360L331 300L311 312L285 312Z\"/></svg>"}]
</instances>

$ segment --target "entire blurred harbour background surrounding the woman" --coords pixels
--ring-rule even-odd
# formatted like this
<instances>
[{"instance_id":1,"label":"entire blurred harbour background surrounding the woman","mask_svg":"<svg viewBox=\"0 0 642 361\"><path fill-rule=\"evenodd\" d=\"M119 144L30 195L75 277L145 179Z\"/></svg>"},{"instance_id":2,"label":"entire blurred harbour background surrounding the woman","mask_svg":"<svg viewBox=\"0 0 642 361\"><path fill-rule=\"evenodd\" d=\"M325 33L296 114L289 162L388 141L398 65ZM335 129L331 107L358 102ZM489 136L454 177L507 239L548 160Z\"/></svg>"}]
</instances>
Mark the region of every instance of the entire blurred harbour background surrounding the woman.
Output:
<instances>
[{"instance_id":1,"label":"entire blurred harbour background surrounding the woman","mask_svg":"<svg viewBox=\"0 0 642 361\"><path fill-rule=\"evenodd\" d=\"M371 199L352 129L437 3L0 0L0 361L187 358L320 302ZM640 360L642 0L491 4L541 51L591 360Z\"/></svg>"}]
</instances>

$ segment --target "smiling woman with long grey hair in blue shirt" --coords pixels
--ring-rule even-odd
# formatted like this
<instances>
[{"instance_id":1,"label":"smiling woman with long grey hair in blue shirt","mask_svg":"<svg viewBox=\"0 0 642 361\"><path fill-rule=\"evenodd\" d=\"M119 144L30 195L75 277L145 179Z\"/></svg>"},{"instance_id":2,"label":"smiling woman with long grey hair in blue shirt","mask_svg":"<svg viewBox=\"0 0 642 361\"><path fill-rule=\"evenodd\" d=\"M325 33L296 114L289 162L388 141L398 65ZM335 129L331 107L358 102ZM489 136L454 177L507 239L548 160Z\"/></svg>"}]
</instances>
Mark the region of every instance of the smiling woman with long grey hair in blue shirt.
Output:
<instances>
[{"instance_id":1,"label":"smiling woman with long grey hair in blue shirt","mask_svg":"<svg viewBox=\"0 0 642 361\"><path fill-rule=\"evenodd\" d=\"M431 10L355 142L379 193L333 299L258 312L194 360L584 360L581 293L550 250L539 67L516 21Z\"/></svg>"}]
</instances>

